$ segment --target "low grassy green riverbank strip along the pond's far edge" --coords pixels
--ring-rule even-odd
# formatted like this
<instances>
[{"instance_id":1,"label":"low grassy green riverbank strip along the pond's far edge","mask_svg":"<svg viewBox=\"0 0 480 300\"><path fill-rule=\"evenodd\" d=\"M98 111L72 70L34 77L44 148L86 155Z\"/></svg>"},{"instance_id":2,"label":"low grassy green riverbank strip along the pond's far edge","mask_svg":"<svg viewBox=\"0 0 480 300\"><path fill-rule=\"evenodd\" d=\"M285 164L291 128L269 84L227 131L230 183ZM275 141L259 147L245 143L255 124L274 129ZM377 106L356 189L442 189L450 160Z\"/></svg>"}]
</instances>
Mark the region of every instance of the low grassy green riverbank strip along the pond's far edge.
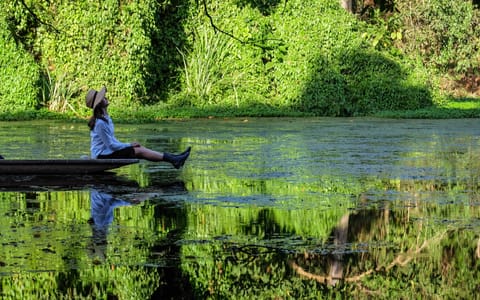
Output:
<instances>
[{"instance_id":1,"label":"low grassy green riverbank strip along the pond's far edge","mask_svg":"<svg viewBox=\"0 0 480 300\"><path fill-rule=\"evenodd\" d=\"M192 119L192 118L236 118L236 117L314 117L309 112L294 111L270 106L256 107L175 107L167 105L153 105L145 107L119 108L112 107L111 114L116 122L148 123L163 119ZM367 115L367 117L396 118L396 119L462 119L480 117L480 99L455 99L442 106L432 106L419 110L381 111ZM46 109L0 113L0 121L27 121L27 120L72 120L84 121L89 117L89 111L52 112Z\"/></svg>"}]
</instances>

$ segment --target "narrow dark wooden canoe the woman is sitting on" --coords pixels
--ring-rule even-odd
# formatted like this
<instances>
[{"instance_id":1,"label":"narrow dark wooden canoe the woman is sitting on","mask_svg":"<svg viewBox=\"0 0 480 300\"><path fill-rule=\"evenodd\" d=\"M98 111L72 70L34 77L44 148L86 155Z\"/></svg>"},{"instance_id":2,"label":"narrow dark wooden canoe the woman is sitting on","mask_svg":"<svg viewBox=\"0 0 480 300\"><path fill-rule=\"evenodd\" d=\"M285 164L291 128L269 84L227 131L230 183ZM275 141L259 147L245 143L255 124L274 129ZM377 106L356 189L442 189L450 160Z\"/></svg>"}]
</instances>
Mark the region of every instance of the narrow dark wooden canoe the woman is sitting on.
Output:
<instances>
[{"instance_id":1,"label":"narrow dark wooden canoe the woman is sitting on","mask_svg":"<svg viewBox=\"0 0 480 300\"><path fill-rule=\"evenodd\" d=\"M138 162L138 159L0 159L0 175L92 174Z\"/></svg>"}]
</instances>

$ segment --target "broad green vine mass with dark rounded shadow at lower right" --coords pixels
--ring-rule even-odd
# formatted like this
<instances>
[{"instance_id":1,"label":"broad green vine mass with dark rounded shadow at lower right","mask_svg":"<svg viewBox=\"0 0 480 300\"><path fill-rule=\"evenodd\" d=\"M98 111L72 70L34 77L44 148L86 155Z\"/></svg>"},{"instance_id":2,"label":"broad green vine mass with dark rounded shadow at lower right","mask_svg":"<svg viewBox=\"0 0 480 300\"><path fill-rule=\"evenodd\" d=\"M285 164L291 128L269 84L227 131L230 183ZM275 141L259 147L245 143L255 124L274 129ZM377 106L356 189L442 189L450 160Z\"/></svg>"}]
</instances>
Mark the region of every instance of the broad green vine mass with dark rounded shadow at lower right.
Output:
<instances>
[{"instance_id":1,"label":"broad green vine mass with dark rounded shadow at lower right","mask_svg":"<svg viewBox=\"0 0 480 300\"><path fill-rule=\"evenodd\" d=\"M196 100L189 102L196 106L212 101L230 106L228 95L234 95L233 104L237 106L261 103L325 116L432 105L430 87L420 80L424 79L421 68L410 68L407 58L391 57L389 51L382 50L390 49L392 43L379 49L366 43L367 38L358 32L375 29L366 27L336 3L289 1L284 6L272 6L268 17L254 6L235 2L212 3L209 10L216 26L242 43L222 50L225 54L216 61L216 68L222 72L212 72L209 78L219 89L209 89L208 97L199 98L197 93ZM204 18L203 26L210 26L209 21ZM383 28L388 26L382 26L386 34ZM207 53L196 48L201 40L192 42L194 51L185 65L185 78L206 65L196 59ZM224 84L237 78L241 79L241 88ZM190 88L185 81L182 91Z\"/></svg>"}]
</instances>

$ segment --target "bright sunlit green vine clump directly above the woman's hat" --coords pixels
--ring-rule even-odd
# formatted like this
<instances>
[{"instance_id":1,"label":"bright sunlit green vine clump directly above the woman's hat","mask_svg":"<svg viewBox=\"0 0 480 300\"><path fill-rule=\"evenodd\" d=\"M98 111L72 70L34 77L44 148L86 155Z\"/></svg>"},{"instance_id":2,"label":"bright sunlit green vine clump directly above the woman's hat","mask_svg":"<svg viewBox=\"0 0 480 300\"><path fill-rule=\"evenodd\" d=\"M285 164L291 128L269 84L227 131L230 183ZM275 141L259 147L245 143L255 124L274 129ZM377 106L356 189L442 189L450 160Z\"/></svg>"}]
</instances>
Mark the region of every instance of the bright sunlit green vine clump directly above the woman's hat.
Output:
<instances>
[{"instance_id":1,"label":"bright sunlit green vine clump directly above the woman's hat","mask_svg":"<svg viewBox=\"0 0 480 300\"><path fill-rule=\"evenodd\" d=\"M142 28L146 17L142 9L148 11L148 6L119 7L117 1L63 2L55 7L59 32L42 36L43 64L53 77L64 78L65 84L73 81L83 87L78 91L78 106L83 107L83 92L103 85L111 98L122 95L119 101L124 104L132 103L135 95L145 95L141 63L149 40Z\"/></svg>"}]
</instances>

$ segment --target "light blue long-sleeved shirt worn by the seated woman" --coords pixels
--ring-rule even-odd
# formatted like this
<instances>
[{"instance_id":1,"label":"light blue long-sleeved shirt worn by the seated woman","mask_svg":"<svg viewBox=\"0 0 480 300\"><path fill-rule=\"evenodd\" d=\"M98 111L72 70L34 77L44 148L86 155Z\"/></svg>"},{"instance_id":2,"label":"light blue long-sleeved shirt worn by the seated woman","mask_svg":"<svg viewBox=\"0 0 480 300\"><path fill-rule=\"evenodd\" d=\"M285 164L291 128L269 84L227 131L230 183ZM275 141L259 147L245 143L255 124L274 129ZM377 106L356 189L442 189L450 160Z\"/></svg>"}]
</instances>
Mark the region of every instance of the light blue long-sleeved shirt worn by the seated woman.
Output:
<instances>
[{"instance_id":1,"label":"light blue long-sleeved shirt worn by the seated woman","mask_svg":"<svg viewBox=\"0 0 480 300\"><path fill-rule=\"evenodd\" d=\"M121 143L115 138L112 119L110 119L110 116L105 116L105 119L108 122L97 119L95 127L90 130L90 154L92 158L112 154L117 150L131 146L131 144Z\"/></svg>"}]
</instances>

